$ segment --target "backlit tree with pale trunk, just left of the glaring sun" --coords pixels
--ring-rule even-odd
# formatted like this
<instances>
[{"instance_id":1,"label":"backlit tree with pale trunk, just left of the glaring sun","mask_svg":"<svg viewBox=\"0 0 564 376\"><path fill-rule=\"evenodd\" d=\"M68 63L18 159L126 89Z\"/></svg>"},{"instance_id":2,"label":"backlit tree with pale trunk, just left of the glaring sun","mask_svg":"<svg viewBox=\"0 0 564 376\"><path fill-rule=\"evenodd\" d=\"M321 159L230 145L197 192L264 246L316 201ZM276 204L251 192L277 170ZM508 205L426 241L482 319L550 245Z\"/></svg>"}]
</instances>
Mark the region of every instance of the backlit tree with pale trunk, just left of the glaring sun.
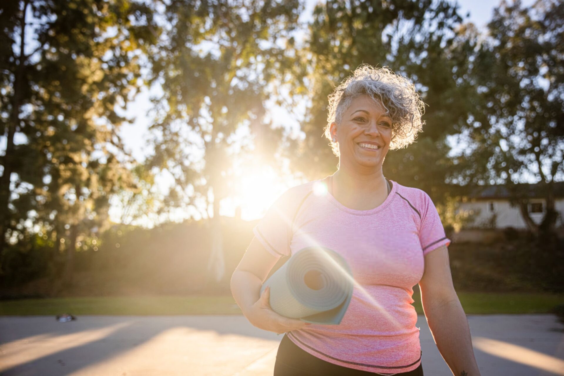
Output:
<instances>
[{"instance_id":1,"label":"backlit tree with pale trunk, just left of the glaring sun","mask_svg":"<svg viewBox=\"0 0 564 376\"><path fill-rule=\"evenodd\" d=\"M205 204L213 238L210 270L224 275L219 203L233 186L235 156L244 157L236 131L244 123L262 134L271 83L293 70L293 38L301 7L298 1L171 1L163 12L166 32L151 54L152 80L163 95L153 100L151 130L155 154L148 165L174 177L171 208ZM211 48L214 47L214 48ZM279 137L278 137L279 138ZM263 151L276 148L277 137L264 136ZM266 156L266 154L265 154ZM272 158L270 158L272 160ZM200 202L201 202L200 201Z\"/></svg>"}]
</instances>

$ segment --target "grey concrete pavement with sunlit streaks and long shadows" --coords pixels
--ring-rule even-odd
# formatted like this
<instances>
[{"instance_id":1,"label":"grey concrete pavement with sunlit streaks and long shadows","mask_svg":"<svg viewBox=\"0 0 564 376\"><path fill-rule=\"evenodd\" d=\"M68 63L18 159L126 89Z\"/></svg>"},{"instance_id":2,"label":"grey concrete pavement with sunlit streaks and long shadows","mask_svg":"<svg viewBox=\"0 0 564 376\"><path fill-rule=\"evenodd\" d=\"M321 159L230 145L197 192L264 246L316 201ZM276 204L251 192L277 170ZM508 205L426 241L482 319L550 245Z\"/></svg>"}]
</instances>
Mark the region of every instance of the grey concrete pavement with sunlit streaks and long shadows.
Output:
<instances>
[{"instance_id":1,"label":"grey concrete pavement with sunlit streaks and long shadows","mask_svg":"<svg viewBox=\"0 0 564 376\"><path fill-rule=\"evenodd\" d=\"M553 315L468 315L482 376L564 375L564 325ZM419 316L426 376L451 376ZM0 374L272 375L281 335L243 316L0 317Z\"/></svg>"}]
</instances>

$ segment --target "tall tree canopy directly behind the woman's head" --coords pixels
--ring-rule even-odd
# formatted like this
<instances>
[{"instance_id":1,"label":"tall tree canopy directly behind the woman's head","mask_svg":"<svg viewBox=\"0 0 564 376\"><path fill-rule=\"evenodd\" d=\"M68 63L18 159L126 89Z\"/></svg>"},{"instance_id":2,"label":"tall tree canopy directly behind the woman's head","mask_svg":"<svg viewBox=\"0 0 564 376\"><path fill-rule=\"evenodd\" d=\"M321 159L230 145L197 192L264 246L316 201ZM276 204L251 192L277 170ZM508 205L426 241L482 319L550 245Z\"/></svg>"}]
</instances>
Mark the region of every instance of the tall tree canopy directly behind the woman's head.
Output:
<instances>
[{"instance_id":1,"label":"tall tree canopy directly behind the woman's head","mask_svg":"<svg viewBox=\"0 0 564 376\"><path fill-rule=\"evenodd\" d=\"M303 93L296 101L311 103L302 122L305 139L293 140L289 148L294 166L310 179L336 170L337 158L323 136L327 96L362 63L389 66L415 82L428 107L424 133L407 149L389 152L385 175L431 194L451 164L445 137L456 133L466 117L465 88L453 73L466 64L465 56L454 51L464 45L461 22L457 6L447 1L330 0L316 5L300 51L307 76L298 77L294 89Z\"/></svg>"}]
</instances>

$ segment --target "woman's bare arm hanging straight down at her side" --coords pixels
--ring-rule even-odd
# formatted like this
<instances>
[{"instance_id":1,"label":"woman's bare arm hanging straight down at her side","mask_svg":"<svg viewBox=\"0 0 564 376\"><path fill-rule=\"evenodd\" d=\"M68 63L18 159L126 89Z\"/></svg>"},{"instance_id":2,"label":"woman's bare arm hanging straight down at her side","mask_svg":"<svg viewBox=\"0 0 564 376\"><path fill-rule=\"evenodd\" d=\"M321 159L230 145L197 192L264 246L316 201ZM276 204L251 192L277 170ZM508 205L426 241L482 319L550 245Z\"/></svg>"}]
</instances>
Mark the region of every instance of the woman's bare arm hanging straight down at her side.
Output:
<instances>
[{"instance_id":1,"label":"woman's bare arm hanging straight down at her side","mask_svg":"<svg viewBox=\"0 0 564 376\"><path fill-rule=\"evenodd\" d=\"M425 255L421 303L440 355L455 376L480 376L470 328L452 285L447 246Z\"/></svg>"}]
</instances>

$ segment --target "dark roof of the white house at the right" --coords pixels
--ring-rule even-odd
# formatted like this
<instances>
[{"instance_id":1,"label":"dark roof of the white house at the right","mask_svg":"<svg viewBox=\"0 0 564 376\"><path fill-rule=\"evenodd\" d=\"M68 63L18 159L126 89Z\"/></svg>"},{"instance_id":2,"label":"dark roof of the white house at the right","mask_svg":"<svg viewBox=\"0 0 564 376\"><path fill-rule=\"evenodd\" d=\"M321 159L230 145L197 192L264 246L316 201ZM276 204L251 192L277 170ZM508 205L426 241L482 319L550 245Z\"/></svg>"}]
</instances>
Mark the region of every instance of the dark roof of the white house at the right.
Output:
<instances>
[{"instance_id":1,"label":"dark roof of the white house at the right","mask_svg":"<svg viewBox=\"0 0 564 376\"><path fill-rule=\"evenodd\" d=\"M503 184L503 185L472 185L459 186L456 191L461 195L470 198L488 199L488 198L511 198L511 197L528 197L543 198L546 196L547 184ZM554 182L554 198L564 197L564 182Z\"/></svg>"}]
</instances>

